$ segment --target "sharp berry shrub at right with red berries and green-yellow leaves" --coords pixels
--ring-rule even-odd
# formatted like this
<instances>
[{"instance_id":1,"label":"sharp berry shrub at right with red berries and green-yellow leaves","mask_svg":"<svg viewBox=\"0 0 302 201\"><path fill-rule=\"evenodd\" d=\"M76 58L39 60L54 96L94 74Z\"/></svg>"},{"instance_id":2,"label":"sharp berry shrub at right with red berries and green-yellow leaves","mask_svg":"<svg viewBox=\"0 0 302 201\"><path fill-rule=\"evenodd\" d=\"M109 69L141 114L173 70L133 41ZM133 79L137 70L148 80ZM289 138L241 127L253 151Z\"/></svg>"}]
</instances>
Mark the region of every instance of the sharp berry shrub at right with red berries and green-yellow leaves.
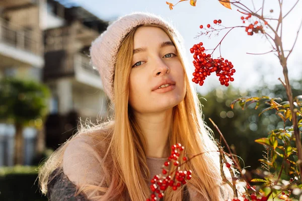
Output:
<instances>
[{"instance_id":1,"label":"sharp berry shrub at right with red berries and green-yellow leaves","mask_svg":"<svg viewBox=\"0 0 302 201\"><path fill-rule=\"evenodd\" d=\"M233 106L236 102L239 102L239 105L244 109L244 106L248 106L251 103L256 103L255 109L257 109L260 105L269 105L269 108L264 109L259 115L262 113L275 109L276 115L278 115L283 120L284 129L276 129L269 133L267 138L261 138L255 140L255 142L259 144L263 144L265 147L270 148L270 151L267 152L267 154L270 155L267 156L267 158L264 157L263 159L260 159L261 163L265 164L265 167L267 167L268 172L259 173L258 171L252 172L256 173L257 175L261 176L261 179L250 179L250 174L246 171L246 169L242 169L240 167L238 158L234 158L232 151L228 144L225 142L225 139L223 138L223 135L219 131L218 127L214 125L214 127L218 130L220 134L220 141L223 139L223 141L226 144L226 147L228 148L230 152L230 158L232 158L232 161L234 163L234 167L236 167L241 176L243 177L243 180L247 183L247 196L243 196L244 200L249 200L248 198L252 200L262 200L265 201L268 199L268 197L272 197L273 199L275 197L279 197L283 200L291 200L289 196L293 197L302 197L302 190L300 189L302 185L302 148L301 148L301 139L300 139L300 132L299 128L302 128L302 95L292 97L292 91L289 84L288 79L288 69L287 69L287 59L289 55L291 55L291 52L293 51L294 46L296 45L297 37L299 34L299 31L302 27L302 22L300 22L298 26L298 30L296 32L296 36L293 42L293 45L290 50L284 50L283 48L283 41L282 41L282 29L283 29L283 19L291 13L291 11L296 7L299 0L294 2L294 5L290 8L290 10L284 15L282 12L282 0L278 0L278 6L280 8L280 12L277 13L278 18L269 17L264 15L264 3L265 1L262 1L262 7L258 10L256 10L255 4L252 0L252 6L253 11L249 9L247 6L241 3L241 1L230 1L230 0L218 0L220 4L222 4L226 8L231 8L231 5L236 7L239 13L243 14L241 17L242 23L246 24L246 22L250 21L249 25L247 26L234 26L234 27L224 27L221 25L221 20L214 20L214 25L211 26L210 24L207 24L205 28L203 25L200 25L200 29L203 29L204 31L200 32L199 36L195 38L199 38L202 35L206 35L210 38L212 34L215 36L218 36L218 34L222 30L228 30L226 34L222 37L220 42L215 46L213 49L205 49L202 42L199 42L197 44L194 44L193 47L190 49L190 52L193 54L193 64L195 67L195 72L193 73L194 78L192 78L192 81L196 84L199 83L199 85L204 84L204 79L209 76L211 73L216 72L216 76L219 77L219 81L222 85L228 86L229 81L234 81L234 78L232 77L233 74L236 72L234 69L234 65L229 60L224 60L223 57L221 57L221 45L222 41L225 40L225 36L230 33L231 30L234 28L245 28L245 32L249 36L253 36L254 34L262 34L266 37L266 40L271 45L271 50L264 52L264 53L247 53L247 54L268 54L268 53L274 53L278 57L278 60L282 66L283 69L283 75L284 75L284 81L279 78L282 85L285 88L286 96L288 101L277 103L279 101L278 98L271 98L268 96L262 96L262 97L241 97L235 100L231 104L231 108L233 109ZM182 1L180 1L182 2ZM196 3L196 0L194 1ZM170 5L171 6L171 5ZM192 5L192 6L195 6ZM260 13L261 11L261 13ZM273 13L274 11L271 9L269 10L270 13ZM277 21L277 23L271 23L272 21ZM218 29L216 29L215 26L218 26ZM222 27L222 28L221 28ZM278 34L279 33L279 34ZM214 51L219 46L219 57L217 59L212 58ZM210 54L206 54L206 51L210 51ZM276 53L276 54L275 54ZM287 54L287 55L285 55ZM300 118L298 120L298 118ZM289 120L291 122L291 127L285 127L285 122ZM213 122L212 122L213 123ZM277 140L278 139L278 140ZM294 142L293 142L294 141ZM217 141L218 143L218 141ZM295 144L295 147L291 147L291 145ZM219 143L218 143L219 145ZM223 159L221 154L223 153L223 149L221 145L218 146L218 150L220 152L220 171L222 171L223 163L225 163L226 167L231 170L231 164L229 164L227 161ZM279 166L280 169L277 169L278 163L280 163L280 160L276 160L277 158L282 158L281 165ZM297 159L296 159L297 158ZM180 165L181 166L181 165ZM275 173L270 173L270 169L274 168L276 170ZM234 169L232 169L234 170ZM233 172L234 173L234 172ZM283 173L285 173L283 175ZM221 177L223 181L228 183L230 186L232 186L233 190L236 189L235 182L236 180L239 180L241 178L235 178L235 176L232 175L233 182L226 179L224 172L220 172ZM289 179L289 182L283 178L283 176L289 176L293 175L293 178ZM282 178L281 178L282 177ZM280 182L281 180L281 182ZM286 182L285 182L286 181ZM265 196L264 192L261 190L261 188L251 187L249 182L263 182L263 189L265 187L269 187L270 191ZM285 182L285 183L284 183ZM281 189L282 191L276 192L276 189ZM288 193L286 194L285 191ZM276 195L273 195L275 193ZM234 195L236 193L234 192ZM237 197L234 197L235 201L238 201Z\"/></svg>"}]
</instances>

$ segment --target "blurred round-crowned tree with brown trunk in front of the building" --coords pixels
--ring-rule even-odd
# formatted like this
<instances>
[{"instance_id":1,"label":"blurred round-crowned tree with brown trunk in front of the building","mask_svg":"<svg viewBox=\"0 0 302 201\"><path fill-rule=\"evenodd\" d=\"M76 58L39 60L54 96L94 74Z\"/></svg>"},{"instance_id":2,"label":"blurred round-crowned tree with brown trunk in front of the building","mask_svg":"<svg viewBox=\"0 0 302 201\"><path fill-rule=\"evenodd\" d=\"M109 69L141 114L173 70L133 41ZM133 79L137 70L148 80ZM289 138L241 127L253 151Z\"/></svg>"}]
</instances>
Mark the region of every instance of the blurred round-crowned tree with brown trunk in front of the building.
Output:
<instances>
[{"instance_id":1,"label":"blurred round-crowned tree with brown trunk in front of the building","mask_svg":"<svg viewBox=\"0 0 302 201\"><path fill-rule=\"evenodd\" d=\"M43 128L43 118L47 115L48 87L30 80L8 77L0 80L0 120L15 125L15 164L23 164L23 128L35 126ZM43 135L44 132L38 132ZM43 136L38 136L43 139ZM45 142L44 142L45 143Z\"/></svg>"}]
</instances>

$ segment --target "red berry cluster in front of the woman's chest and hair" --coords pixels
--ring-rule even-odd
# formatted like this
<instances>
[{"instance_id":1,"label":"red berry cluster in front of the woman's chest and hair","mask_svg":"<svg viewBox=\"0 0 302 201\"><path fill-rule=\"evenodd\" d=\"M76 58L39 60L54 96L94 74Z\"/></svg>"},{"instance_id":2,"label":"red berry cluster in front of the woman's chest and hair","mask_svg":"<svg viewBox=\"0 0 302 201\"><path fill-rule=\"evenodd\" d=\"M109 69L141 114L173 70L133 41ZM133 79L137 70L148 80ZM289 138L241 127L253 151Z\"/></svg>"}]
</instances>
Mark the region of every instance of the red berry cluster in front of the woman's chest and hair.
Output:
<instances>
[{"instance_id":1,"label":"red berry cluster in front of the woman's chest and hair","mask_svg":"<svg viewBox=\"0 0 302 201\"><path fill-rule=\"evenodd\" d=\"M170 165L170 162L173 163L175 166L179 166L178 158L181 154L181 152L184 150L184 147L181 146L180 143L173 145L171 147L171 155L168 157L168 161L164 163L164 167L168 167ZM182 158L183 161L187 160L187 157ZM168 174L168 170L163 168L162 171L163 175ZM156 194L158 194L159 198L162 198L164 196L164 191L167 189L167 187L171 186L173 190L177 190L177 188L183 184L186 184L186 180L190 180L192 177L192 171L191 170L177 170L175 172L175 177L172 178L171 175L162 176L162 175L155 175L153 179L151 179L151 185L150 189L153 192L150 195L150 198L147 198L146 201L154 201L157 200Z\"/></svg>"}]
</instances>

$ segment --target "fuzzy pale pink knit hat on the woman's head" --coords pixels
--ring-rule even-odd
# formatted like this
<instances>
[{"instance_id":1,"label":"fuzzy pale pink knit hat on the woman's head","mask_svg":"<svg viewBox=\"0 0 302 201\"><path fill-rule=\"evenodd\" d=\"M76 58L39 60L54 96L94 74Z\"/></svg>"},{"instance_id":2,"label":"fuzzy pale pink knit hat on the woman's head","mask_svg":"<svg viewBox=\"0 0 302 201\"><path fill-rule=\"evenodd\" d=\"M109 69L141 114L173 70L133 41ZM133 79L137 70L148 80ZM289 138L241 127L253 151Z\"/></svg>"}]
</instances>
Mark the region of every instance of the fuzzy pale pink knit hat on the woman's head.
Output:
<instances>
[{"instance_id":1,"label":"fuzzy pale pink knit hat on the woman's head","mask_svg":"<svg viewBox=\"0 0 302 201\"><path fill-rule=\"evenodd\" d=\"M90 48L91 64L98 69L104 91L112 102L114 102L114 66L118 49L133 28L147 24L162 25L177 35L178 40L181 38L177 30L161 17L151 13L136 12L120 17L92 42Z\"/></svg>"}]
</instances>

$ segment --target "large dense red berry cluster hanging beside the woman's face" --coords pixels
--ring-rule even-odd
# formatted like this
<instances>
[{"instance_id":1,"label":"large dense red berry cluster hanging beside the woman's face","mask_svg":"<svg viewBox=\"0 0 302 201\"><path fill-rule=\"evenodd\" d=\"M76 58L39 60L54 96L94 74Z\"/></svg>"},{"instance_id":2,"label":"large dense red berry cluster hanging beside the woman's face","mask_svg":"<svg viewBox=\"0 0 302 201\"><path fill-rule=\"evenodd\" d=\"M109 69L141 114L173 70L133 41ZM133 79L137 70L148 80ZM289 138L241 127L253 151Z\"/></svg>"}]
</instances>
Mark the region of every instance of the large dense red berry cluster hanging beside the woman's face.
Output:
<instances>
[{"instance_id":1,"label":"large dense red berry cluster hanging beside the woman's face","mask_svg":"<svg viewBox=\"0 0 302 201\"><path fill-rule=\"evenodd\" d=\"M193 45L190 49L191 53L194 53L193 64L195 67L195 72L193 72L194 78L193 82L199 83L200 86L203 85L205 78L212 72L216 72L216 76L219 77L221 85L229 86L229 81L234 81L232 75L236 72L233 69L234 65L231 61L224 60L220 57L217 59L211 58L210 54L205 54L205 48L202 46L203 43Z\"/></svg>"}]
</instances>

